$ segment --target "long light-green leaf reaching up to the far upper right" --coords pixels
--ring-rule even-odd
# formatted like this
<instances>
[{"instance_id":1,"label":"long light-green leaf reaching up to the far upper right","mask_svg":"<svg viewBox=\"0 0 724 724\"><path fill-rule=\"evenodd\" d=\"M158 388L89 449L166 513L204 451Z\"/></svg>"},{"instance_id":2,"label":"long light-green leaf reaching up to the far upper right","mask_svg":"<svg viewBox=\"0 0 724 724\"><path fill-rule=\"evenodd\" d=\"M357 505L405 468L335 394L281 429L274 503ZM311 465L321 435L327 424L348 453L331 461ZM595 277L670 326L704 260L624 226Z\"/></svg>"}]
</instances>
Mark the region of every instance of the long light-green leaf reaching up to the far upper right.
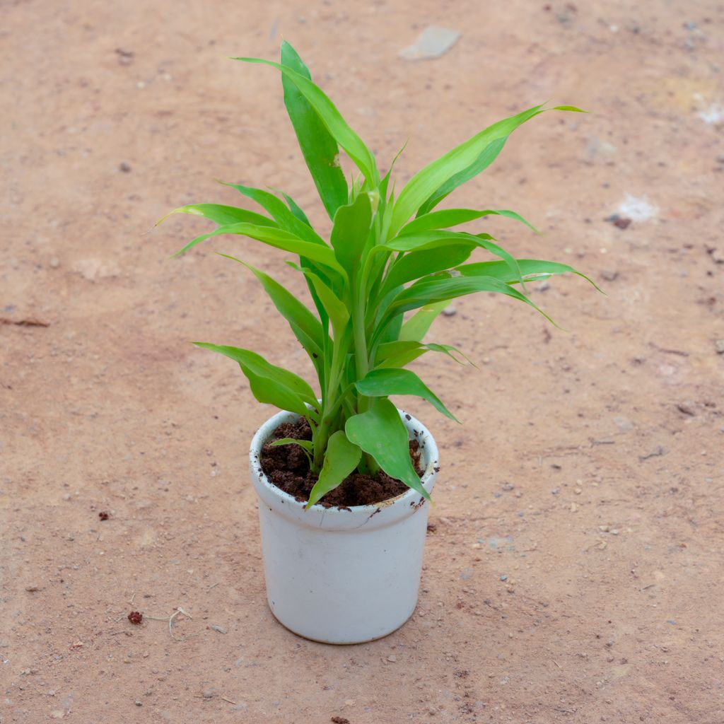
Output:
<instances>
[{"instance_id":1,"label":"long light-green leaf reaching up to the far upper right","mask_svg":"<svg viewBox=\"0 0 724 724\"><path fill-rule=\"evenodd\" d=\"M439 190L444 188L445 184L456 174L461 174L461 176L459 182L456 181L455 188L478 174L484 167L489 166L495 156L500 153L500 148L508 135L518 126L542 112L543 106L534 106L527 111L498 121L416 173L397 197L390 234L395 234L430 196L440 193ZM481 159L484 151L494 142L497 142L499 147L494 147L490 151L492 158ZM450 193L450 191L446 193Z\"/></svg>"}]
</instances>

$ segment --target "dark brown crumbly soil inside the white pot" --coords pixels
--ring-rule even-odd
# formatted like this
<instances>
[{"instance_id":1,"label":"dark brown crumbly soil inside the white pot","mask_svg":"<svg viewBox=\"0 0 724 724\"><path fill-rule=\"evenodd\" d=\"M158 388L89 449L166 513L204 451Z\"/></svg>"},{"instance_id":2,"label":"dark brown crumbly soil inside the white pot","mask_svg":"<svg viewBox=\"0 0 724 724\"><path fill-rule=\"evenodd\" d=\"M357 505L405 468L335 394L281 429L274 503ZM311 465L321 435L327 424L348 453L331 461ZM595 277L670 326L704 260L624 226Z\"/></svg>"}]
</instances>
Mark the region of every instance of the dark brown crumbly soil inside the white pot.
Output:
<instances>
[{"instance_id":1,"label":"dark brown crumbly soil inside the white pot","mask_svg":"<svg viewBox=\"0 0 724 724\"><path fill-rule=\"evenodd\" d=\"M312 431L306 420L285 422L272 434L270 442L291 437L311 440ZM419 476L422 476L420 450L417 440L410 441L410 457ZM261 448L261 469L266 477L284 492L297 500L309 500L309 494L317 481L309 469L309 461L299 445L272 446L269 442ZM375 475L352 473L342 484L328 492L319 505L325 508L351 508L353 505L374 505L402 494L408 487L400 480L379 471Z\"/></svg>"}]
</instances>

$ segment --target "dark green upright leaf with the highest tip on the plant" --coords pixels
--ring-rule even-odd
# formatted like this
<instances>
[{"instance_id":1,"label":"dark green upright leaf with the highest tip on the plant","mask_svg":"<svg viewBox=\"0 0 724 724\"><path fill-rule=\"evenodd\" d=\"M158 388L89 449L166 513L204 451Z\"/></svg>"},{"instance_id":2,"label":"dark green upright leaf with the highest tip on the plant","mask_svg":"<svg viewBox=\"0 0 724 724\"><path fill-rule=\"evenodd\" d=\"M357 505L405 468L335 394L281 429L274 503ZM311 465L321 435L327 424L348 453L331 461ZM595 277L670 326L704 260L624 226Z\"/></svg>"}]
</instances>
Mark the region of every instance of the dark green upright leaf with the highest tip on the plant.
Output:
<instances>
[{"instance_id":1,"label":"dark green upright leaf with the highest tip on the plant","mask_svg":"<svg viewBox=\"0 0 724 724\"><path fill-rule=\"evenodd\" d=\"M282 43L282 65L311 80L308 67L287 41ZM347 203L348 195L345 174L340 168L340 149L337 141L321 122L309 101L285 75L282 75L282 86L287 114L297 135L304 160L329 218L334 219L337 209Z\"/></svg>"}]
</instances>

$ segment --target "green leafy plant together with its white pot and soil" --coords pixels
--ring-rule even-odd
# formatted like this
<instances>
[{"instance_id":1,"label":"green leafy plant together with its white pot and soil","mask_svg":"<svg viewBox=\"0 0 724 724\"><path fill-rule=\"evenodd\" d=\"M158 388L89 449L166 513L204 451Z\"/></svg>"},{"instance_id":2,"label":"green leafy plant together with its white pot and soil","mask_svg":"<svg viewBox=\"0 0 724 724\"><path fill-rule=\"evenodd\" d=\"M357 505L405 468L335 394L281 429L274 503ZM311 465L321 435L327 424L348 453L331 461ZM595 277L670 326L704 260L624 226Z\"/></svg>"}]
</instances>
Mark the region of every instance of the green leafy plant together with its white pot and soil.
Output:
<instances>
[{"instance_id":1,"label":"green leafy plant together with its white pot and soil","mask_svg":"<svg viewBox=\"0 0 724 724\"><path fill-rule=\"evenodd\" d=\"M281 410L261 426L250 451L271 610L309 639L369 641L395 631L416 606L426 503L438 471L432 435L389 396L423 397L454 420L406 369L429 352L460 361L450 345L424 342L442 308L473 292L497 292L537 309L526 296L526 281L578 274L565 264L514 258L487 233L454 230L493 214L531 226L513 211L436 209L494 161L513 130L547 109L534 106L494 123L396 188L392 167L379 172L374 155L289 43L282 45L280 63L237 60L281 72L287 112L333 222L329 242L288 195L282 200L228 184L266 213L214 203L176 209L172 213L218 225L179 253L209 237L235 234L298 257L287 264L303 274L314 311L265 271L229 258L251 271L290 324L317 387L251 350L196 344L237 362L256 400ZM356 169L349 185L340 148ZM478 250L493 258L469 262Z\"/></svg>"}]
</instances>

